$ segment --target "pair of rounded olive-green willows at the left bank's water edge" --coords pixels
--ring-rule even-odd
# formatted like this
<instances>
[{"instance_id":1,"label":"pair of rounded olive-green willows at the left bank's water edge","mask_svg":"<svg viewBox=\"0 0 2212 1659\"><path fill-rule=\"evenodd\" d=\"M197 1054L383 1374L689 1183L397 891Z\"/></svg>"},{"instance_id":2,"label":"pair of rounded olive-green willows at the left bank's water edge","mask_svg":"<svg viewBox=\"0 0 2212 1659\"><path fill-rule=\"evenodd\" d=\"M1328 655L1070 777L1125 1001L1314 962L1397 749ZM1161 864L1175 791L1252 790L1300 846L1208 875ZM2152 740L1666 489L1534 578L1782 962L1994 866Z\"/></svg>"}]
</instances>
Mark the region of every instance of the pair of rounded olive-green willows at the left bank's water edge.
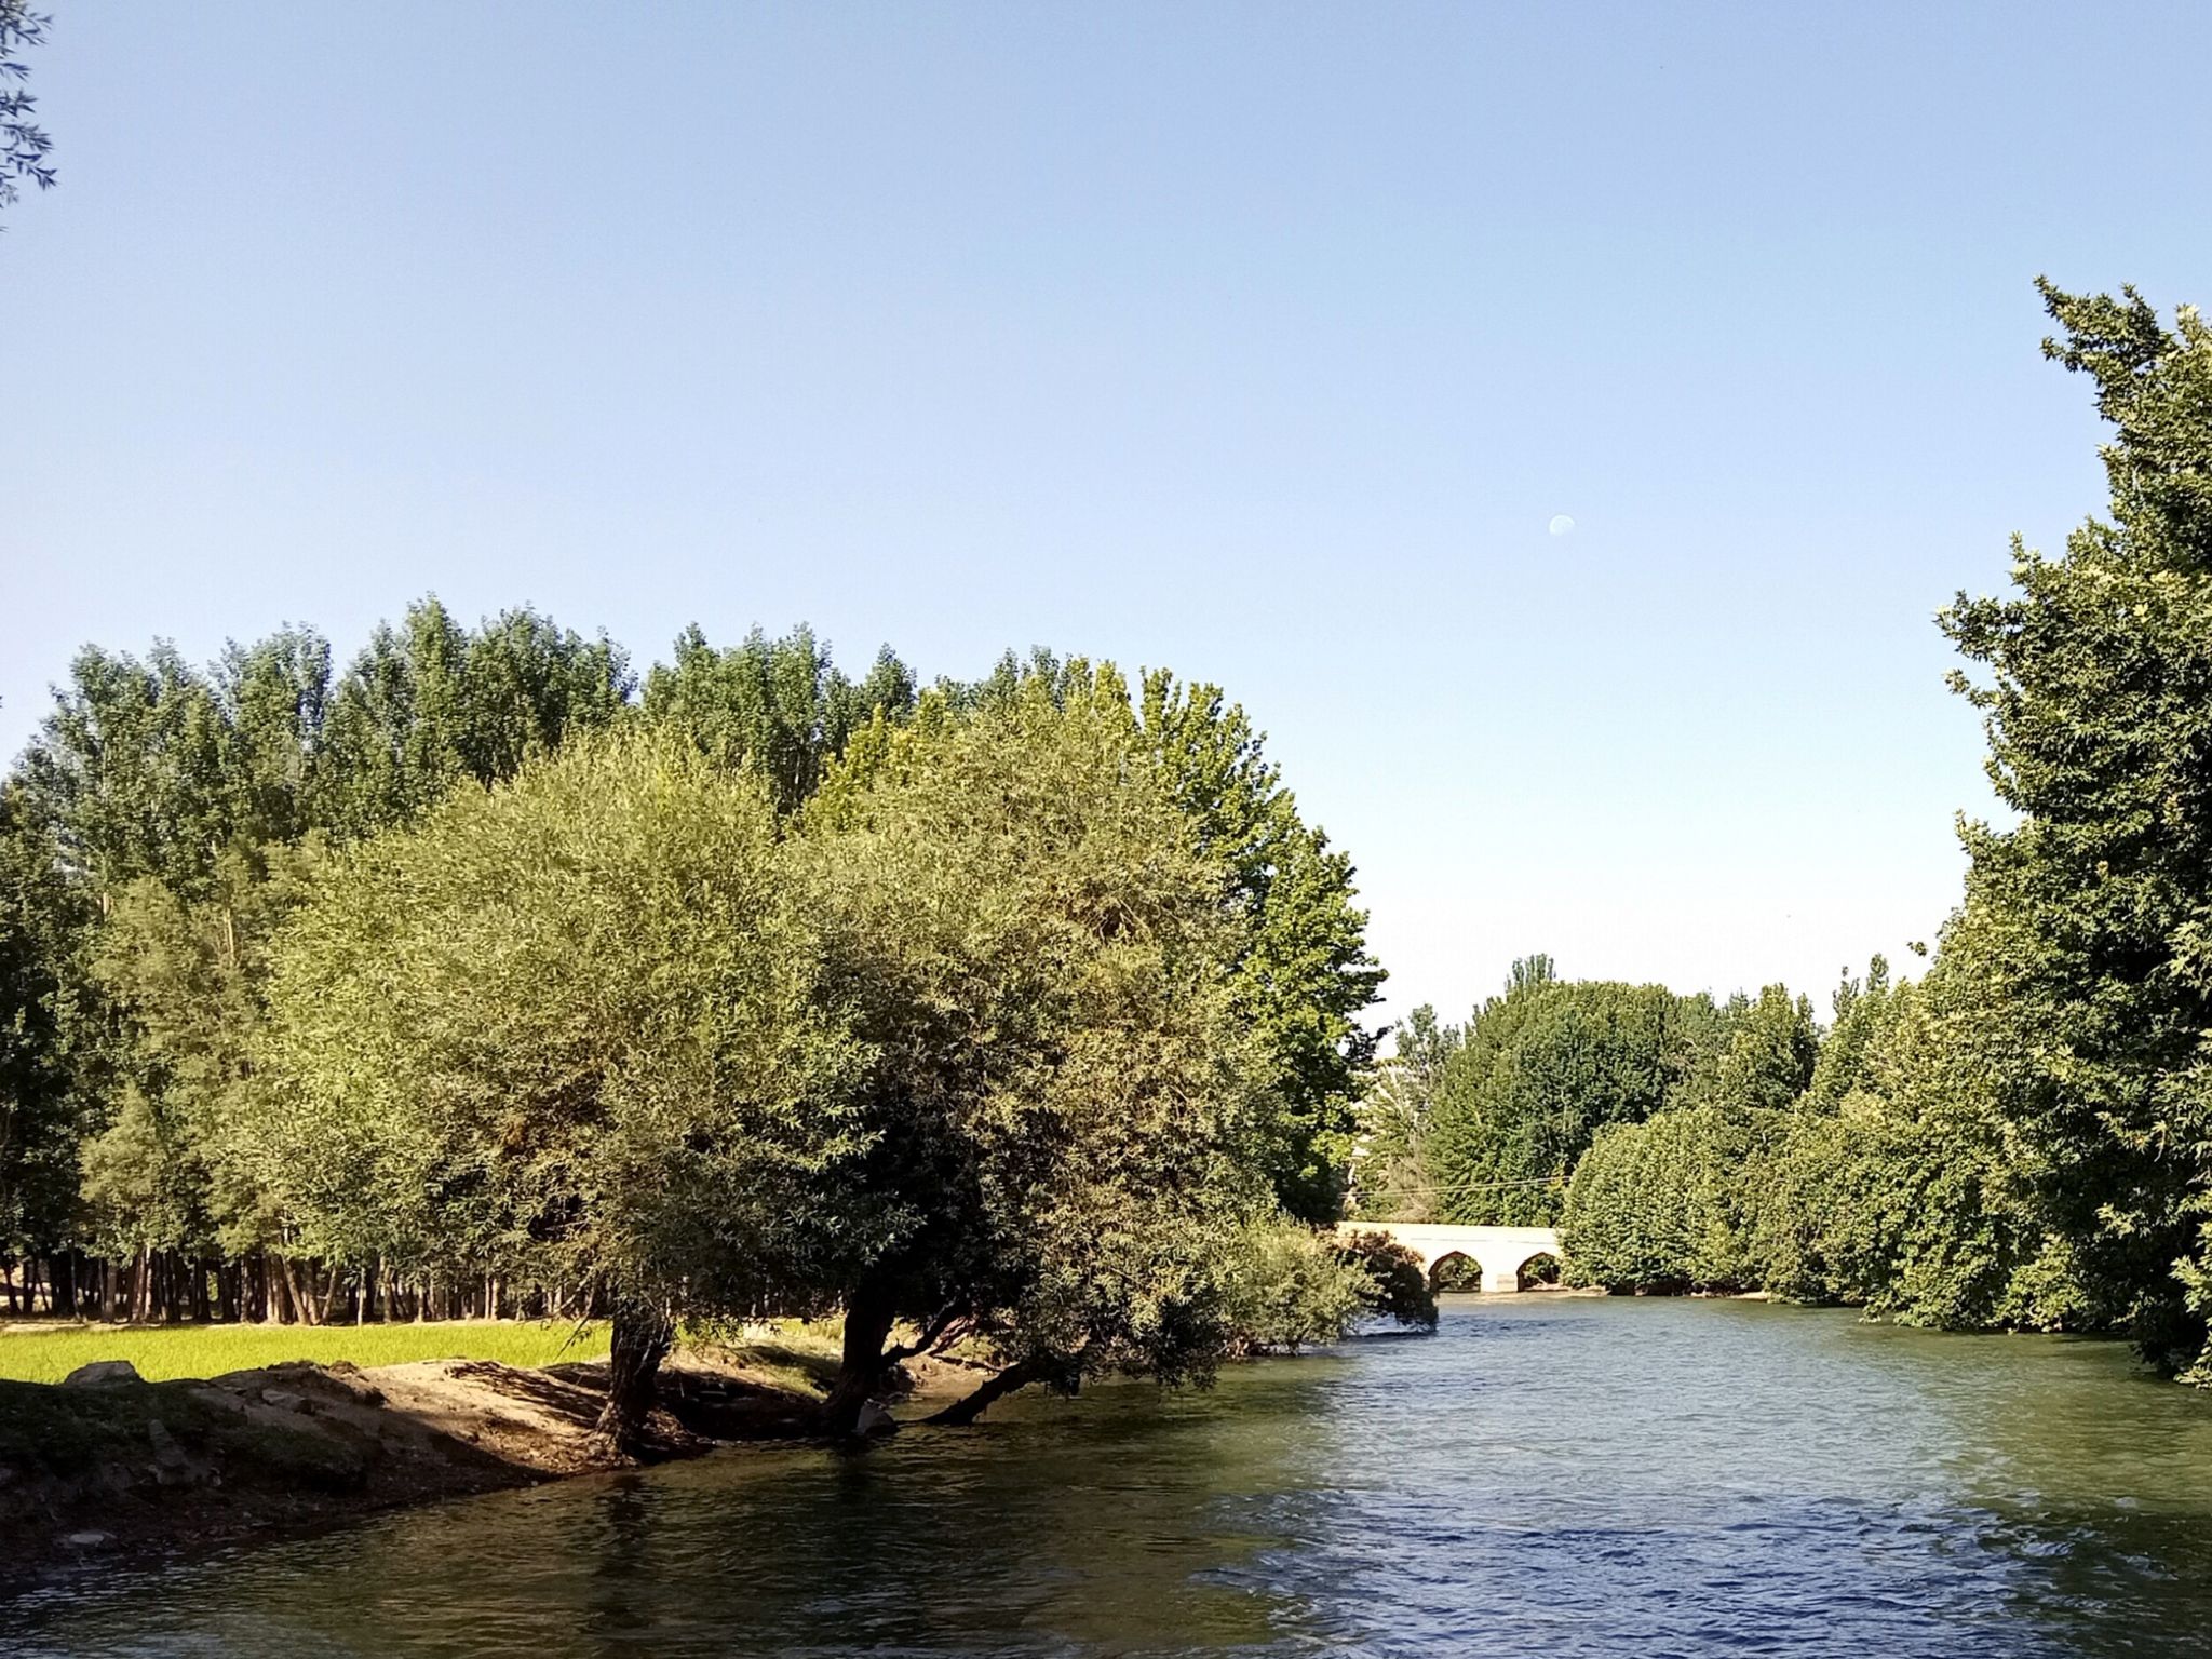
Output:
<instances>
[{"instance_id":1,"label":"pair of rounded olive-green willows at the left bank's water edge","mask_svg":"<svg viewBox=\"0 0 2212 1659\"><path fill-rule=\"evenodd\" d=\"M1283 1071L1217 845L1110 668L878 712L799 814L684 728L571 739L316 860L237 1157L319 1259L611 1303L613 1444L686 1316L841 1310L834 1431L949 1340L947 1420L1206 1376L1252 1294L1310 1340L1369 1285L1245 1248Z\"/></svg>"}]
</instances>

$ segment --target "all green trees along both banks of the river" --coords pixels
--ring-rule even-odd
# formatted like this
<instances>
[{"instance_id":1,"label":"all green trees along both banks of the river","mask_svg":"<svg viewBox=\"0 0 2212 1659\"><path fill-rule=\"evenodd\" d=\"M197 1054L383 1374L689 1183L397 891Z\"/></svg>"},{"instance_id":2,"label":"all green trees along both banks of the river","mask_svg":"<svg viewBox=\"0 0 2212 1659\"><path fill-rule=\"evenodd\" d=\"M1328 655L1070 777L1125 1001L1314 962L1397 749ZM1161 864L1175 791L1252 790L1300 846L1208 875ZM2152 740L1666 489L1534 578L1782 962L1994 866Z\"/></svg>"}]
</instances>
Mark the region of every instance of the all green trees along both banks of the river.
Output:
<instances>
[{"instance_id":1,"label":"all green trees along both banks of the river","mask_svg":"<svg viewBox=\"0 0 2212 1659\"><path fill-rule=\"evenodd\" d=\"M434 599L345 672L84 650L0 790L18 1314L604 1316L635 1444L679 1325L1203 1378L1429 1316L1365 1214L1559 1221L1613 1290L2130 1334L2205 1380L2212 343L2046 290L2110 522L1944 615L2011 827L1918 982L1823 1031L1544 958L1371 1066L1343 852L1245 714L1035 655L688 630L644 681ZM1365 1110L1356 1108L1365 1093Z\"/></svg>"}]
</instances>

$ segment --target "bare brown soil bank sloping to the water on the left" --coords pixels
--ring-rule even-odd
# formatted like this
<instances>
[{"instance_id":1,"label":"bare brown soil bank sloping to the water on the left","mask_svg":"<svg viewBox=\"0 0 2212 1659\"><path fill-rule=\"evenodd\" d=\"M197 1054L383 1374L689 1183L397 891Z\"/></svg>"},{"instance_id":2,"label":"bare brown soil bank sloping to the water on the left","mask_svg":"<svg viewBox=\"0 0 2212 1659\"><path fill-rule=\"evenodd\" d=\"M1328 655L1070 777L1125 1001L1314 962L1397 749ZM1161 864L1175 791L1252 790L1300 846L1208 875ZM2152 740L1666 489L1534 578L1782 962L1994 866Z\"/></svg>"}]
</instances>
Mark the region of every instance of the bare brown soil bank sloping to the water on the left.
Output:
<instances>
[{"instance_id":1,"label":"bare brown soil bank sloping to the water on the left","mask_svg":"<svg viewBox=\"0 0 2212 1659\"><path fill-rule=\"evenodd\" d=\"M661 1371L644 1455L818 1433L816 1358L783 1345L684 1349ZM911 1398L933 1400L971 1374L925 1363L909 1385ZM0 1590L602 1471L591 1436L604 1405L604 1360L0 1383Z\"/></svg>"}]
</instances>

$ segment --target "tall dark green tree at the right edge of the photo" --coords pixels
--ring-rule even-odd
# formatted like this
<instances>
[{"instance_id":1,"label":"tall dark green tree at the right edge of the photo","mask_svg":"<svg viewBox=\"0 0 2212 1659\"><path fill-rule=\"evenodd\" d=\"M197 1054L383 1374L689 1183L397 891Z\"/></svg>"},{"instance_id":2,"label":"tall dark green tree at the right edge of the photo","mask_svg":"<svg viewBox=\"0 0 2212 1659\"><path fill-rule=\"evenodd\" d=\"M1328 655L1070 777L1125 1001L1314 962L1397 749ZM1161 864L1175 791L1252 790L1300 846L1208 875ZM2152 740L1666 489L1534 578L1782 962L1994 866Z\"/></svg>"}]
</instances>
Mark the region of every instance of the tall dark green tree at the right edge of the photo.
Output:
<instances>
[{"instance_id":1,"label":"tall dark green tree at the right edge of the photo","mask_svg":"<svg viewBox=\"0 0 2212 1659\"><path fill-rule=\"evenodd\" d=\"M2055 560L2015 540L2013 595L1942 617L2017 814L1962 825L1942 967L2044 1232L2033 1301L2183 1365L2212 1314L2212 330L2039 288L2112 422L2110 520Z\"/></svg>"}]
</instances>

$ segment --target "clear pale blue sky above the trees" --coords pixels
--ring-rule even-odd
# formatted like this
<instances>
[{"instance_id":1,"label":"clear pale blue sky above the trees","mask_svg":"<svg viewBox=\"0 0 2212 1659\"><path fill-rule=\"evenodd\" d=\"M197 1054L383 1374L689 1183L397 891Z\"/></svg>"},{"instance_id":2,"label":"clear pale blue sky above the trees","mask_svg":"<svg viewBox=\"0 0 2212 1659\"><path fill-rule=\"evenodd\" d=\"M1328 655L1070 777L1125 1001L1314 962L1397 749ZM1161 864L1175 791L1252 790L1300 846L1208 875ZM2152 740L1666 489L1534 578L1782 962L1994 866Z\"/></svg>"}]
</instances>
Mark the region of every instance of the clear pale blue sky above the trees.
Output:
<instances>
[{"instance_id":1,"label":"clear pale blue sky above the trees","mask_svg":"<svg viewBox=\"0 0 2212 1659\"><path fill-rule=\"evenodd\" d=\"M1931 938L1931 617L2101 498L2031 279L2212 301L2183 4L49 9L0 748L427 591L1166 664L1394 1013Z\"/></svg>"}]
</instances>

